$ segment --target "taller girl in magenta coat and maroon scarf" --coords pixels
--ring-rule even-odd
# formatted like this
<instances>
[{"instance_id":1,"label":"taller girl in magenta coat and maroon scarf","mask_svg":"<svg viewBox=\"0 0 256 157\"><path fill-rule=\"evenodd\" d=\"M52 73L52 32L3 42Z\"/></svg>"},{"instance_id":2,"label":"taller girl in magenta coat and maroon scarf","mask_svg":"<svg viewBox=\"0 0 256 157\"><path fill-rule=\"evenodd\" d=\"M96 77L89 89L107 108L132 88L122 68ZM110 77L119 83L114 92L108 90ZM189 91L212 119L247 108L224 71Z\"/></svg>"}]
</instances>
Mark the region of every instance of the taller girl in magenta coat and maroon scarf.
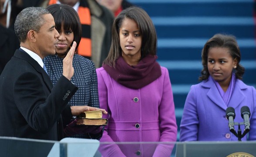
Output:
<instances>
[{"instance_id":1,"label":"taller girl in magenta coat and maroon scarf","mask_svg":"<svg viewBox=\"0 0 256 157\"><path fill-rule=\"evenodd\" d=\"M173 93L167 68L157 63L157 35L139 7L114 20L112 44L96 69L99 104L109 113L100 142L170 142L177 140ZM170 157L171 144L101 144L103 157Z\"/></svg>"}]
</instances>

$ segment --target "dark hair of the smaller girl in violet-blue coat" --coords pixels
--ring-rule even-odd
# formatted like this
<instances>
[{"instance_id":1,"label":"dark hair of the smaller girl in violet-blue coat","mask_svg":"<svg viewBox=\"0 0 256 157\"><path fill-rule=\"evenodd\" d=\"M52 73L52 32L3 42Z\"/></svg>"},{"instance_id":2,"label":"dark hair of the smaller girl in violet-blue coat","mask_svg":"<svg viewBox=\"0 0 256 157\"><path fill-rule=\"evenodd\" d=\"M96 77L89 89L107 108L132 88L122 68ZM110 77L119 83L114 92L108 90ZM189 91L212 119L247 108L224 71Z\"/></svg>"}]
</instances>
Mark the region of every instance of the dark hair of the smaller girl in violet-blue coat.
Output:
<instances>
[{"instance_id":1,"label":"dark hair of the smaller girl in violet-blue coat","mask_svg":"<svg viewBox=\"0 0 256 157\"><path fill-rule=\"evenodd\" d=\"M236 70L236 78L242 80L242 75L245 72L245 68L240 64L241 61L241 53L240 48L237 44L236 37L228 34L215 34L212 38L210 38L206 43L204 48L202 49L202 65L203 69L201 70L201 76L199 80L206 80L209 77L208 72L208 52L210 48L228 48L229 53L233 59L237 59L237 68Z\"/></svg>"}]
</instances>

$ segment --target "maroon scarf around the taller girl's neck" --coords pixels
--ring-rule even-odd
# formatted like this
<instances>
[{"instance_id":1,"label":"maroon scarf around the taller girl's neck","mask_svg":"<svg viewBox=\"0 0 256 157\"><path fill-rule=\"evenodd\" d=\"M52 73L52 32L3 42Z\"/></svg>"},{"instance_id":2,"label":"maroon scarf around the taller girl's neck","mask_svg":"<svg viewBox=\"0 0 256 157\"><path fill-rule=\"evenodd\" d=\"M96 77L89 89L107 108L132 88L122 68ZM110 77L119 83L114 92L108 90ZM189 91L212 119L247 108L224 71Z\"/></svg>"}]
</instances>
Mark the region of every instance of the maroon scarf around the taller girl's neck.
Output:
<instances>
[{"instance_id":1,"label":"maroon scarf around the taller girl's neck","mask_svg":"<svg viewBox=\"0 0 256 157\"><path fill-rule=\"evenodd\" d=\"M161 76L157 56L148 55L137 65L128 65L123 57L116 60L116 67L103 64L103 68L116 82L131 89L140 89Z\"/></svg>"}]
</instances>

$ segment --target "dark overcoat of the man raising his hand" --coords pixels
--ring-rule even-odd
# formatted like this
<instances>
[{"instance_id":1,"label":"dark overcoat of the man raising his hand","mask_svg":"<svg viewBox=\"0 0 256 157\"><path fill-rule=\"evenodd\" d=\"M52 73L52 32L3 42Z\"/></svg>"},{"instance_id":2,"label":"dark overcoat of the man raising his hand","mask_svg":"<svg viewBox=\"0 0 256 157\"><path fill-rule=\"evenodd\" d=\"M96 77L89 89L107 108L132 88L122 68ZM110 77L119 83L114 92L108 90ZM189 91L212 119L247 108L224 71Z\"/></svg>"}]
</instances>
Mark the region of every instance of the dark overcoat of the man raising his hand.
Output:
<instances>
[{"instance_id":1,"label":"dark overcoat of the man raising his hand","mask_svg":"<svg viewBox=\"0 0 256 157\"><path fill-rule=\"evenodd\" d=\"M60 140L61 113L72 118L67 104L77 89L63 75L53 87L38 62L16 50L0 75L0 136Z\"/></svg>"}]
</instances>

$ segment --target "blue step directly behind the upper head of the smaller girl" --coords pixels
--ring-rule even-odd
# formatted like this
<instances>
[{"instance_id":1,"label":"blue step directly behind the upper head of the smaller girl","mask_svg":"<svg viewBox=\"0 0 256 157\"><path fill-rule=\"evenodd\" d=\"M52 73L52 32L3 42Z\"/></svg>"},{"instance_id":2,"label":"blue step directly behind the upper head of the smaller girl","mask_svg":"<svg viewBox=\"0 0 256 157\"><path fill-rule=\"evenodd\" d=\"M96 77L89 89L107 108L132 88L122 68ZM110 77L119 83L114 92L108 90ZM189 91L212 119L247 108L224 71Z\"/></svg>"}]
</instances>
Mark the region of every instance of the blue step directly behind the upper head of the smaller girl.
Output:
<instances>
[{"instance_id":1,"label":"blue step directly behind the upper head of the smaller girl","mask_svg":"<svg viewBox=\"0 0 256 157\"><path fill-rule=\"evenodd\" d=\"M198 60L208 38L159 38L158 60ZM256 59L256 41L254 38L237 38L242 61ZM255 67L256 68L256 67Z\"/></svg>"}]
</instances>

